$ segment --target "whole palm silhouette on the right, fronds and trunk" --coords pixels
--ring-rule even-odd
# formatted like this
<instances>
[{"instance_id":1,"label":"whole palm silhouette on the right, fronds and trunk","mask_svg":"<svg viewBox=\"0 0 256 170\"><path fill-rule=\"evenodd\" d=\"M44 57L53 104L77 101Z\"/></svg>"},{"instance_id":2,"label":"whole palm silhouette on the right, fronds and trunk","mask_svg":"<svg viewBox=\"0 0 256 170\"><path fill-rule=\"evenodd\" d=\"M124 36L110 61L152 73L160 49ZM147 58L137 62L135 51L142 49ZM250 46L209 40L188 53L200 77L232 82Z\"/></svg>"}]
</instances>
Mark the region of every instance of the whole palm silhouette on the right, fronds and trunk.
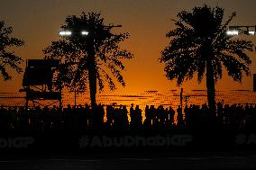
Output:
<instances>
[{"instance_id":1,"label":"whole palm silhouette on the right, fronds and trunk","mask_svg":"<svg viewBox=\"0 0 256 170\"><path fill-rule=\"evenodd\" d=\"M215 112L215 83L223 76L223 66L234 81L242 82L242 73L250 76L251 59L245 50L253 44L226 35L226 27L235 13L223 23L224 9L195 7L178 13L177 28L169 31L169 46L161 51L160 62L165 63L166 76L177 84L197 73L198 83L206 74L207 100L210 112Z\"/></svg>"}]
</instances>

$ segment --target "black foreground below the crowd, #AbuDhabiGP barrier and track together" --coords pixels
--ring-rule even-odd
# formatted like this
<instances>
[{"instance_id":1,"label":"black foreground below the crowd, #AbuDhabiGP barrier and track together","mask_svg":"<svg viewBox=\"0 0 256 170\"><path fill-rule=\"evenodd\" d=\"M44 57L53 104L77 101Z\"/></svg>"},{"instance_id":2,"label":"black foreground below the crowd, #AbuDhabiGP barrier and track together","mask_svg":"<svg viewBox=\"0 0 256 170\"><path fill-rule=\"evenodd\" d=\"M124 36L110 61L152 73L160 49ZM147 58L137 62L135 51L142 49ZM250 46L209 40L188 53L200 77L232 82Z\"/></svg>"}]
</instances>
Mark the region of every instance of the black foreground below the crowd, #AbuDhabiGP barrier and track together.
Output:
<instances>
[{"instance_id":1,"label":"black foreground below the crowd, #AbuDhabiGP barrier and track together","mask_svg":"<svg viewBox=\"0 0 256 170\"><path fill-rule=\"evenodd\" d=\"M207 132L31 134L27 141L9 134L0 141L0 170L256 169L254 132ZM166 136L169 145L160 142Z\"/></svg>"}]
</instances>

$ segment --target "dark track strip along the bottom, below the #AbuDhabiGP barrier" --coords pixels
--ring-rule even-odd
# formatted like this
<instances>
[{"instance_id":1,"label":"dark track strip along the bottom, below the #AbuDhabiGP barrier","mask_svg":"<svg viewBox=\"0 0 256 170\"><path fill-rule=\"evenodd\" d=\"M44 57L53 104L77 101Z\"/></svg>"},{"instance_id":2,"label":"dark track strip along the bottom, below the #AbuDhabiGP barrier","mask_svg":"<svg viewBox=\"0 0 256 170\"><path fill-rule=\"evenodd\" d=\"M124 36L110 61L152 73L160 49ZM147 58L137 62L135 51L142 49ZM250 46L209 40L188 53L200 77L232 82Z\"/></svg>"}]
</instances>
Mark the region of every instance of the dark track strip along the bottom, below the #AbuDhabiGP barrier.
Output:
<instances>
[{"instance_id":1,"label":"dark track strip along the bottom, below the #AbuDhabiGP barrier","mask_svg":"<svg viewBox=\"0 0 256 170\"><path fill-rule=\"evenodd\" d=\"M65 158L67 157L67 158ZM49 156L49 158L8 159L0 161L0 169L68 170L68 169L255 169L256 155L244 153L209 153L207 155L160 154L154 156L111 155L105 158L81 156Z\"/></svg>"}]
</instances>

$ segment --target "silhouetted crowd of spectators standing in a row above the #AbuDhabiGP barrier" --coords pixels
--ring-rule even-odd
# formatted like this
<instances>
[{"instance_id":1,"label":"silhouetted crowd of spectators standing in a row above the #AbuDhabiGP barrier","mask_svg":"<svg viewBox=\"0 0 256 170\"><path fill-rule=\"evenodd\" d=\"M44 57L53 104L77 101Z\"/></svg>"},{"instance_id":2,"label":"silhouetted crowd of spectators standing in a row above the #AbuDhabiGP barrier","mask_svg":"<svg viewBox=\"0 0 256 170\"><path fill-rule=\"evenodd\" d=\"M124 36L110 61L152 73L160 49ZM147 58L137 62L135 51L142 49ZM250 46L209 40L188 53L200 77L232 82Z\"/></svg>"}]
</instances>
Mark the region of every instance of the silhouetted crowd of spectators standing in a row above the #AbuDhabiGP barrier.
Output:
<instances>
[{"instance_id":1,"label":"silhouetted crowd of spectators standing in a row above the #AbuDhabiGP barrier","mask_svg":"<svg viewBox=\"0 0 256 170\"><path fill-rule=\"evenodd\" d=\"M144 112L139 105L128 109L125 105L98 104L68 105L62 111L40 106L0 108L0 130L15 132L48 132L87 130L256 130L255 104L216 104L216 112L202 106L180 106L175 110L169 106L146 105Z\"/></svg>"}]
</instances>

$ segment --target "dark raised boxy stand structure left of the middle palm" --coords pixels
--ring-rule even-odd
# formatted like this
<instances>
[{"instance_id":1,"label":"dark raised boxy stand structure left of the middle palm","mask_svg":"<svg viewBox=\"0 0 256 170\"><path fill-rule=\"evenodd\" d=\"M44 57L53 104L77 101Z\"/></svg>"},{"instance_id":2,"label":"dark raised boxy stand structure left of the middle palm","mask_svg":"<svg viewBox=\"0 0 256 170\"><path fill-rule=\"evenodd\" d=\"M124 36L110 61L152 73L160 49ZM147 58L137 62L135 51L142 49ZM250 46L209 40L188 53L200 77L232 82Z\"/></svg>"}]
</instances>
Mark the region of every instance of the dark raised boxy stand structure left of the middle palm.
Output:
<instances>
[{"instance_id":1,"label":"dark raised boxy stand structure left of the middle palm","mask_svg":"<svg viewBox=\"0 0 256 170\"><path fill-rule=\"evenodd\" d=\"M52 101L48 105L61 103L61 90L53 88L53 75L59 66L58 59L28 59L23 75L23 89L25 93L25 106L29 107L30 102L35 106L44 106L45 101Z\"/></svg>"}]
</instances>

